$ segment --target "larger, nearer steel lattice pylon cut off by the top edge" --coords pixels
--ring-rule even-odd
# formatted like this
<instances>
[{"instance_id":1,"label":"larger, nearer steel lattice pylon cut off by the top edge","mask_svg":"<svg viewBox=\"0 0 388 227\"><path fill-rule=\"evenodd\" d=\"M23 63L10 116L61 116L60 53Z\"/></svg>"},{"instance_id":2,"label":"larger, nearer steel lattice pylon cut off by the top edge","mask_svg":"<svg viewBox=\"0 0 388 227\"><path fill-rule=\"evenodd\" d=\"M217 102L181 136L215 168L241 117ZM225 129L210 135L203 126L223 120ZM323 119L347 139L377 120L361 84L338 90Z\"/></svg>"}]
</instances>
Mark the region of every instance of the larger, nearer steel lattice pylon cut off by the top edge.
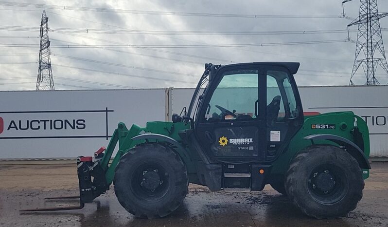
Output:
<instances>
[{"instance_id":1,"label":"larger, nearer steel lattice pylon cut off by the top edge","mask_svg":"<svg viewBox=\"0 0 388 227\"><path fill-rule=\"evenodd\" d=\"M344 0L342 5L348 1L352 0ZM344 11L343 15L345 15ZM359 16L348 24L348 28L358 25L354 64L349 85L354 85L352 79L360 66L362 66L367 78L365 85L380 84L375 77L378 65L388 73L387 58L385 56L379 21L379 19L387 16L388 13L378 12L377 0L360 0ZM362 54L360 55L361 52Z\"/></svg>"}]
</instances>

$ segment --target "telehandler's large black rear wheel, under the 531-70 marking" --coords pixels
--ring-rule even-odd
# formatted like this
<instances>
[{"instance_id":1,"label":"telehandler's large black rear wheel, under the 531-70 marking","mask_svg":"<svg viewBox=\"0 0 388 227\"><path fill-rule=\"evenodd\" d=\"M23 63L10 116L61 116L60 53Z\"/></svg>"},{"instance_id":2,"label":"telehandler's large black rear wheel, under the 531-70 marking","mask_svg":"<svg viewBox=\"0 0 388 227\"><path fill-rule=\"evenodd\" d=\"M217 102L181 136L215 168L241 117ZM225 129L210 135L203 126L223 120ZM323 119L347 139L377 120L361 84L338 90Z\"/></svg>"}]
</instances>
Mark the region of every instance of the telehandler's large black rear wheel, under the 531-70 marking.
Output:
<instances>
[{"instance_id":1,"label":"telehandler's large black rear wheel, under the 531-70 marking","mask_svg":"<svg viewBox=\"0 0 388 227\"><path fill-rule=\"evenodd\" d=\"M348 152L314 145L293 159L286 174L287 194L303 213L317 219L346 216L362 198L364 179Z\"/></svg>"}]
</instances>

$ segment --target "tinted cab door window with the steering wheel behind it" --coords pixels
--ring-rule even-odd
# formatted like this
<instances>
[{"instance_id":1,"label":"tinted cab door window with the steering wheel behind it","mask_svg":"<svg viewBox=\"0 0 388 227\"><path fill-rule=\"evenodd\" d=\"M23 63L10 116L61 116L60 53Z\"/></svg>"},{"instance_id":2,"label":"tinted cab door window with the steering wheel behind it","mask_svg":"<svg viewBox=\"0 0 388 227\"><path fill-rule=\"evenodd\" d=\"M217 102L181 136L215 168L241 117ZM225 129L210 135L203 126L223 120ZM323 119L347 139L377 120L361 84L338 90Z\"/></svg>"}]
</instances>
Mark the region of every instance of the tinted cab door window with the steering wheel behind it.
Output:
<instances>
[{"instance_id":1,"label":"tinted cab door window with the steering wheel behind it","mask_svg":"<svg viewBox=\"0 0 388 227\"><path fill-rule=\"evenodd\" d=\"M258 70L237 70L223 74L208 104L208 122L254 120L259 100Z\"/></svg>"}]
</instances>

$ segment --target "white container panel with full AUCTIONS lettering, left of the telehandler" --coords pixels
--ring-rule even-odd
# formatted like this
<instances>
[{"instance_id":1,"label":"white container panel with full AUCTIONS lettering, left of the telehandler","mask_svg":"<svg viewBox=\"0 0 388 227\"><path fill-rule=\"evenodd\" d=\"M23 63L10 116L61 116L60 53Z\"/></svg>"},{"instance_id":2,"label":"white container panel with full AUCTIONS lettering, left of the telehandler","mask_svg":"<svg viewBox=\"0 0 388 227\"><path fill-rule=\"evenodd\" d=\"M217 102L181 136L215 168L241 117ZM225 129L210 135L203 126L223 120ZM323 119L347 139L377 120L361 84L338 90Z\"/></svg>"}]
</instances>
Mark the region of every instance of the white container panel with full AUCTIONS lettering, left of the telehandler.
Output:
<instances>
[{"instance_id":1,"label":"white container panel with full AUCTIONS lettering, left of the telehandler","mask_svg":"<svg viewBox=\"0 0 388 227\"><path fill-rule=\"evenodd\" d=\"M165 120L165 90L0 92L0 158L91 155L122 121Z\"/></svg>"}]
</instances>

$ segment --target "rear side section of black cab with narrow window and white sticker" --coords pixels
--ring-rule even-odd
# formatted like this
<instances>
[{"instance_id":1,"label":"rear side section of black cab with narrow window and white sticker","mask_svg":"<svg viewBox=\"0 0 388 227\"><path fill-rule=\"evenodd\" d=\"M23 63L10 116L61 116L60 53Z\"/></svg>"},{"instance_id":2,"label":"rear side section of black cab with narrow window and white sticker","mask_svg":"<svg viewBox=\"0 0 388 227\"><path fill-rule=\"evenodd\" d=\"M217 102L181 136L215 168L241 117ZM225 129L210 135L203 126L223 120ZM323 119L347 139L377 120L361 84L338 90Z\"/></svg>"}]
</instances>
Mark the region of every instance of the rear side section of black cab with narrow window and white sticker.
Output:
<instances>
[{"instance_id":1,"label":"rear side section of black cab with narrow window and white sticker","mask_svg":"<svg viewBox=\"0 0 388 227\"><path fill-rule=\"evenodd\" d=\"M293 76L283 67L267 66L265 161L275 160L303 124L303 110Z\"/></svg>"}]
</instances>

